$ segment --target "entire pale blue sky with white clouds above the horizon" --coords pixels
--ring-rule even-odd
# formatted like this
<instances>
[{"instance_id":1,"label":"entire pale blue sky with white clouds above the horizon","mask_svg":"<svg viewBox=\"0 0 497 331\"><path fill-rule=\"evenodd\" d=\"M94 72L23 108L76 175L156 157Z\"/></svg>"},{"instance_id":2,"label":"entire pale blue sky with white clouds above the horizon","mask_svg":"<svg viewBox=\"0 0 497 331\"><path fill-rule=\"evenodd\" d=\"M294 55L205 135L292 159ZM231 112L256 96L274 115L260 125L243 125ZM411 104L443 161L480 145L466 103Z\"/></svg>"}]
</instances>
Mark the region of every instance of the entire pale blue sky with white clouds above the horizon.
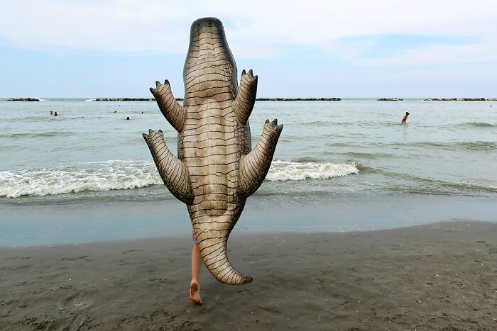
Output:
<instances>
[{"instance_id":1,"label":"entire pale blue sky with white clouds above the horizon","mask_svg":"<svg viewBox=\"0 0 497 331\"><path fill-rule=\"evenodd\" d=\"M497 97L496 0L0 0L0 98L182 97L207 16L258 97Z\"/></svg>"}]
</instances>

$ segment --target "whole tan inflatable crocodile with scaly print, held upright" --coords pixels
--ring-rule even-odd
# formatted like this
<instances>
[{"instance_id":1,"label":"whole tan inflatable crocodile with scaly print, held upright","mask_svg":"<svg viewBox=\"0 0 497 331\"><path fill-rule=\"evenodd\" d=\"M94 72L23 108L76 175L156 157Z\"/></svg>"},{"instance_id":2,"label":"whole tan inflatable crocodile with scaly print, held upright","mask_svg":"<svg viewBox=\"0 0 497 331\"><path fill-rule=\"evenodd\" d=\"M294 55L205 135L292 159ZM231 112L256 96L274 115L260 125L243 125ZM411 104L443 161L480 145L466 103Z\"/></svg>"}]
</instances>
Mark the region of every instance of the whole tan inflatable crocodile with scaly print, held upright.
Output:
<instances>
[{"instance_id":1,"label":"whole tan inflatable crocodile with scaly print, held upright","mask_svg":"<svg viewBox=\"0 0 497 331\"><path fill-rule=\"evenodd\" d=\"M160 111L178 131L178 158L160 133L143 135L165 185L187 204L207 269L225 284L252 278L228 260L226 242L248 196L261 186L283 125L266 121L251 151L249 116L256 101L257 76L241 74L217 18L192 24L183 80L185 101L175 101L169 82L151 89Z\"/></svg>"}]
</instances>

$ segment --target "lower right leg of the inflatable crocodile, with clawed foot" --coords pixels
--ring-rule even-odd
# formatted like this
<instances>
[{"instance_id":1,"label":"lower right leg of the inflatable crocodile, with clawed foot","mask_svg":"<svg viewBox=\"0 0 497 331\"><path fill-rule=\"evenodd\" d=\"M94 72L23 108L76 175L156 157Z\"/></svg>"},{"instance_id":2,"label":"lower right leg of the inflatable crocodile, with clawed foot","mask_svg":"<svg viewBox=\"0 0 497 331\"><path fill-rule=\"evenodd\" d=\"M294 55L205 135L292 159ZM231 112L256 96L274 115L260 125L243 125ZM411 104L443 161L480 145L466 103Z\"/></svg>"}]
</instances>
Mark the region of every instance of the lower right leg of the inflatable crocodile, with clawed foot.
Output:
<instances>
[{"instance_id":1,"label":"lower right leg of the inflatable crocodile, with clawed foot","mask_svg":"<svg viewBox=\"0 0 497 331\"><path fill-rule=\"evenodd\" d=\"M261 138L253 150L240 159L239 193L247 198L255 192L264 181L273 159L278 138L280 138L283 124L278 125L278 120L266 120Z\"/></svg>"}]
</instances>

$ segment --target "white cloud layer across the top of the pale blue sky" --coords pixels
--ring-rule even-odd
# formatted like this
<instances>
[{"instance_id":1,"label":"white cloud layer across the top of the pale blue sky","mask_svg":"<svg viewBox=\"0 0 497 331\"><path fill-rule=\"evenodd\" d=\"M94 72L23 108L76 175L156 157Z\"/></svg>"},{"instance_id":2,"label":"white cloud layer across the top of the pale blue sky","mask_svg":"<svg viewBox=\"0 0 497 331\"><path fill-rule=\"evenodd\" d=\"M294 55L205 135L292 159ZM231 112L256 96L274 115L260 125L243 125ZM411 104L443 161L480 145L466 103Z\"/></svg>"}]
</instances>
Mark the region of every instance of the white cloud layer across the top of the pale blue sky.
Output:
<instances>
[{"instance_id":1,"label":"white cloud layer across the top of the pale blue sky","mask_svg":"<svg viewBox=\"0 0 497 331\"><path fill-rule=\"evenodd\" d=\"M51 53L185 52L192 21L217 16L241 58L278 56L291 46L364 65L497 60L497 1L47 0L9 1L2 7L0 43ZM466 36L479 43L400 46L395 56L378 57L370 56L374 45L367 39L341 42L368 35Z\"/></svg>"}]
</instances>

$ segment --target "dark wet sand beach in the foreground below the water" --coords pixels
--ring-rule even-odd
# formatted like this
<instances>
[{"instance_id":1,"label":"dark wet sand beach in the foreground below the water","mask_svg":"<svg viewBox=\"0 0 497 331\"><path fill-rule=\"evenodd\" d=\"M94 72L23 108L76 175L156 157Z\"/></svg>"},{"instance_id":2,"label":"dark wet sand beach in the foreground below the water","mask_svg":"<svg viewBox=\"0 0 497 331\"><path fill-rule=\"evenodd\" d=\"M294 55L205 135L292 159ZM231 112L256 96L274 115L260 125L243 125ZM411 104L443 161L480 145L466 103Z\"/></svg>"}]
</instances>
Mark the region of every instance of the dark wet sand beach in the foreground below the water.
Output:
<instances>
[{"instance_id":1,"label":"dark wet sand beach in the foreground below the water","mask_svg":"<svg viewBox=\"0 0 497 331\"><path fill-rule=\"evenodd\" d=\"M236 229L235 229L236 230ZM373 232L236 235L231 263L202 269L191 240L0 249L0 329L496 330L497 223Z\"/></svg>"}]
</instances>

